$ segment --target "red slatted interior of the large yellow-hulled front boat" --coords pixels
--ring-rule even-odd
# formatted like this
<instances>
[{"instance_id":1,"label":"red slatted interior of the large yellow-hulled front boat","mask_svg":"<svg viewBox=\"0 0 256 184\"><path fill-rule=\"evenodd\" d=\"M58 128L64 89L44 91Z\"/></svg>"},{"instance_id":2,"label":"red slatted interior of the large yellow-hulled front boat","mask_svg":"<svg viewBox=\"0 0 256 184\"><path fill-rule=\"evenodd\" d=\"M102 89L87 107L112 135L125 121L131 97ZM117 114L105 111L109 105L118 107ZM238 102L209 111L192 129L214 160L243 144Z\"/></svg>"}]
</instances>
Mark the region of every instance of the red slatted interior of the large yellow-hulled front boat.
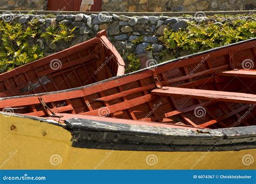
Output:
<instances>
[{"instance_id":1,"label":"red slatted interior of the large yellow-hulled front boat","mask_svg":"<svg viewBox=\"0 0 256 184\"><path fill-rule=\"evenodd\" d=\"M255 46L256 39L250 39L80 88L1 98L0 109L60 120L67 114L89 115L179 128L256 125Z\"/></svg>"}]
</instances>

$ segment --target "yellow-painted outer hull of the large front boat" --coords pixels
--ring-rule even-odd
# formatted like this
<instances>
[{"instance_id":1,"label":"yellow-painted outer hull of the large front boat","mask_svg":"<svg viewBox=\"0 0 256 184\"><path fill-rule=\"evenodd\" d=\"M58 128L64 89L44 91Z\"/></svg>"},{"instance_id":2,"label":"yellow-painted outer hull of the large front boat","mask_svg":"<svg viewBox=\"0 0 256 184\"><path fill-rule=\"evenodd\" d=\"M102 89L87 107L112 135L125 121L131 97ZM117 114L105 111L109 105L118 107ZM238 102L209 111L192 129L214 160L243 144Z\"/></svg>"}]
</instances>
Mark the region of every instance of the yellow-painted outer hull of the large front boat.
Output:
<instances>
[{"instance_id":1,"label":"yellow-painted outer hull of the large front boat","mask_svg":"<svg viewBox=\"0 0 256 184\"><path fill-rule=\"evenodd\" d=\"M256 161L251 165L242 164L242 157L246 154L256 159L256 149L224 152L154 152L76 148L71 146L70 132L60 126L23 117L4 117L2 114L0 140L0 169L256 168ZM149 164L151 160L154 165L147 164L147 158L151 158Z\"/></svg>"}]
</instances>

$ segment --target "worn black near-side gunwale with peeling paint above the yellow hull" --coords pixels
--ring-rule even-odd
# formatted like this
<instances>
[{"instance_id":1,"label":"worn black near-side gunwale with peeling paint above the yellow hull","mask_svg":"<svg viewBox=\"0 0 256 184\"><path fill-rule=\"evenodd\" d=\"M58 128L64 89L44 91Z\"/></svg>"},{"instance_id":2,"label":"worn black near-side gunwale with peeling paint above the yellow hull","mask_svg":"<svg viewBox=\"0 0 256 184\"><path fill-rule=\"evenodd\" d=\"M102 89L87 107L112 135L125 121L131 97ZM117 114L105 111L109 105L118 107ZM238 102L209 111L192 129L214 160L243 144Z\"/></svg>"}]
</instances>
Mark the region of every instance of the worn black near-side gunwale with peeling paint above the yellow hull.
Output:
<instances>
[{"instance_id":1,"label":"worn black near-side gunwale with peeling paint above the yellow hull","mask_svg":"<svg viewBox=\"0 0 256 184\"><path fill-rule=\"evenodd\" d=\"M242 128L190 130L92 121L86 118L66 119L66 125L63 125L52 119L0 112L0 115L6 114L14 117L29 118L34 121L39 121L40 123L61 126L71 133L71 146L80 148L160 152L239 151L256 148L256 125L244 126ZM106 117L102 118L104 119ZM93 133L96 138L97 136L100 137L100 139L96 141L97 143L91 140L91 138L87 140L86 135L90 133ZM118 138L119 136L120 138L122 138L122 136L125 137L127 141L122 140L120 143L117 141L117 135ZM103 139L103 137L105 137L105 139ZM147 138L151 140L145 142ZM160 144L156 144L156 141ZM170 144L164 144L166 141L169 141ZM164 148L162 144L165 145Z\"/></svg>"}]
</instances>

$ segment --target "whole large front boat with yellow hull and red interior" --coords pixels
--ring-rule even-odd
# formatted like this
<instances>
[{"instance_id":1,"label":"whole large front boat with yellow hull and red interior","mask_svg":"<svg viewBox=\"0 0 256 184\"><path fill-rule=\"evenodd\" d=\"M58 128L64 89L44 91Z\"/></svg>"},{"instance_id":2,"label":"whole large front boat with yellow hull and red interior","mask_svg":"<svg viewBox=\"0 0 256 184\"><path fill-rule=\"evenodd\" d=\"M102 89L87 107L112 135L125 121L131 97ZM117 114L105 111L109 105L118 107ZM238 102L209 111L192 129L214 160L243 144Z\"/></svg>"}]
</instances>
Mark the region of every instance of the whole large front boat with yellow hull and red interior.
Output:
<instances>
[{"instance_id":1,"label":"whole large front boat with yellow hull and red interior","mask_svg":"<svg viewBox=\"0 0 256 184\"><path fill-rule=\"evenodd\" d=\"M254 38L84 87L0 98L1 140L25 146L5 168L253 169L255 46ZM15 149L8 143L6 153ZM52 155L62 164L49 164Z\"/></svg>"}]
</instances>

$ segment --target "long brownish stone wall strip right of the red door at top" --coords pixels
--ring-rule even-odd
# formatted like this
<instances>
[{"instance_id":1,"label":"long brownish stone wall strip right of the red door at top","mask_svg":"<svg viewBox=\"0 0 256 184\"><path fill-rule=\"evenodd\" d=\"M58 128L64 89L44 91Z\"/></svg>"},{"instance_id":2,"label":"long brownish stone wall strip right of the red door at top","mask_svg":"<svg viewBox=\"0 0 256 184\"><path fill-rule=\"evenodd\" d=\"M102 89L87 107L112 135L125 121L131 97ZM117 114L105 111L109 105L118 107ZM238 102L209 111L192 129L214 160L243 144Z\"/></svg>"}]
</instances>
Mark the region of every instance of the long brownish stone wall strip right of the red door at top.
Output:
<instances>
[{"instance_id":1,"label":"long brownish stone wall strip right of the red door at top","mask_svg":"<svg viewBox=\"0 0 256 184\"><path fill-rule=\"evenodd\" d=\"M103 11L169 12L256 9L255 0L103 0Z\"/></svg>"}]
</instances>

